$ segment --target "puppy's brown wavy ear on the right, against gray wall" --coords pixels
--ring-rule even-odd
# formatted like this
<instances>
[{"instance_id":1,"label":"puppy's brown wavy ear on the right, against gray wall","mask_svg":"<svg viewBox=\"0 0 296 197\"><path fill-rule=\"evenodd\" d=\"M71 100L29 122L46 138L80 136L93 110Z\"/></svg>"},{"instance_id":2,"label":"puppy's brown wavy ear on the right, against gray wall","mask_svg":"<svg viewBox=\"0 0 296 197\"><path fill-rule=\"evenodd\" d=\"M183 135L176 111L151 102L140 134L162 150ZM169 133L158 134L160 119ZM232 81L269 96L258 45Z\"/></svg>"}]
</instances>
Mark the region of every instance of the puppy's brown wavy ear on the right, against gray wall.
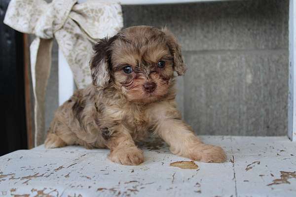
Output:
<instances>
[{"instance_id":1,"label":"puppy's brown wavy ear on the right, against gray wall","mask_svg":"<svg viewBox=\"0 0 296 197\"><path fill-rule=\"evenodd\" d=\"M174 56L174 69L178 75L184 75L187 67L184 63L183 56L181 53L181 47L178 44L177 38L171 33L166 27L162 29L162 32L165 33L166 42L170 48L171 53Z\"/></svg>"}]
</instances>

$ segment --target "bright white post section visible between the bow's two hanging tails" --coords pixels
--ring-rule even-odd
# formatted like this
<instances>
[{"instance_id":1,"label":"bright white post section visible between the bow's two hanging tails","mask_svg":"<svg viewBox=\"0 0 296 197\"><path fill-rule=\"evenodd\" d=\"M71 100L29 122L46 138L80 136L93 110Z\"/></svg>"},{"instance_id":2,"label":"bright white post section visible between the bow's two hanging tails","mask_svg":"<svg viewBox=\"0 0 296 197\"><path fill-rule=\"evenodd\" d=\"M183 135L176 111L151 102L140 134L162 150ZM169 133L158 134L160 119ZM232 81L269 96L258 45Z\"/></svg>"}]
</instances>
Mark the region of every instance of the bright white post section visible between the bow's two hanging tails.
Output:
<instances>
[{"instance_id":1,"label":"bright white post section visible between the bow's two hanging tails","mask_svg":"<svg viewBox=\"0 0 296 197\"><path fill-rule=\"evenodd\" d=\"M73 95L74 88L73 73L62 51L59 50L59 105Z\"/></svg>"}]
</instances>

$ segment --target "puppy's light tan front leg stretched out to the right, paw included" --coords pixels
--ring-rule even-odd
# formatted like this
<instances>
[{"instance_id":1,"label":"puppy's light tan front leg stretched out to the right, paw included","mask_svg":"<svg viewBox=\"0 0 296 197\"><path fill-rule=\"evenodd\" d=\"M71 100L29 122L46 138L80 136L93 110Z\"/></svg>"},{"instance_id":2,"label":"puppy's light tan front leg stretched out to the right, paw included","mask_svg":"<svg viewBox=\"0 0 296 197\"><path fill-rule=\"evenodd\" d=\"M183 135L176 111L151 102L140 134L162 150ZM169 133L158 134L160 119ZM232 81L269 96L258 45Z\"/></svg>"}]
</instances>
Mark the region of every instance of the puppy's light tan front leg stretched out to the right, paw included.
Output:
<instances>
[{"instance_id":1,"label":"puppy's light tan front leg stretched out to the right, paw included","mask_svg":"<svg viewBox=\"0 0 296 197\"><path fill-rule=\"evenodd\" d=\"M176 155L202 162L221 163L226 160L222 148L204 144L182 120L161 119L155 131Z\"/></svg>"}]
</instances>

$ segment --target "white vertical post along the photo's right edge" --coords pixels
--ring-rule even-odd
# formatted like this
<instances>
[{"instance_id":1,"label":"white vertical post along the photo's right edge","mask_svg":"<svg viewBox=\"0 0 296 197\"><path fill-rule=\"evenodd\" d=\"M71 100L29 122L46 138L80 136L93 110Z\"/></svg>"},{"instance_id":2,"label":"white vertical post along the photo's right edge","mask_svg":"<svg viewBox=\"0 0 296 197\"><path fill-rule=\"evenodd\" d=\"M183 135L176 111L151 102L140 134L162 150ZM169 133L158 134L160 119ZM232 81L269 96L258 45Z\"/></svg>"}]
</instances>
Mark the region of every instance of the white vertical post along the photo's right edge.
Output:
<instances>
[{"instance_id":1,"label":"white vertical post along the photo's right edge","mask_svg":"<svg viewBox=\"0 0 296 197\"><path fill-rule=\"evenodd\" d=\"M290 0L289 5L289 94L288 94L288 136L296 141L296 3Z\"/></svg>"}]
</instances>

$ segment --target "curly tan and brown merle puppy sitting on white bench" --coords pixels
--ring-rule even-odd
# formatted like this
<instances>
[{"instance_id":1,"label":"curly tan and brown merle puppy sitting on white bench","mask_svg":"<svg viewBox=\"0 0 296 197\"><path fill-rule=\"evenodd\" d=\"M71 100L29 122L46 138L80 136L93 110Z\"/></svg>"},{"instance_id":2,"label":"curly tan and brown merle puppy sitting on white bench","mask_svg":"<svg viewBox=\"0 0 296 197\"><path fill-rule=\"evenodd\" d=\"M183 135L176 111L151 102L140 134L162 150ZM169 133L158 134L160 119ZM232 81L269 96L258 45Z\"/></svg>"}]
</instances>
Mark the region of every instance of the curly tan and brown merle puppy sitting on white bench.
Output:
<instances>
[{"instance_id":1,"label":"curly tan and brown merle puppy sitting on white bench","mask_svg":"<svg viewBox=\"0 0 296 197\"><path fill-rule=\"evenodd\" d=\"M135 141L159 135L172 153L202 162L224 162L222 148L204 144L181 117L175 77L186 67L167 29L130 27L94 46L92 85L77 90L55 113L45 147L109 148L112 162L144 161Z\"/></svg>"}]
</instances>

